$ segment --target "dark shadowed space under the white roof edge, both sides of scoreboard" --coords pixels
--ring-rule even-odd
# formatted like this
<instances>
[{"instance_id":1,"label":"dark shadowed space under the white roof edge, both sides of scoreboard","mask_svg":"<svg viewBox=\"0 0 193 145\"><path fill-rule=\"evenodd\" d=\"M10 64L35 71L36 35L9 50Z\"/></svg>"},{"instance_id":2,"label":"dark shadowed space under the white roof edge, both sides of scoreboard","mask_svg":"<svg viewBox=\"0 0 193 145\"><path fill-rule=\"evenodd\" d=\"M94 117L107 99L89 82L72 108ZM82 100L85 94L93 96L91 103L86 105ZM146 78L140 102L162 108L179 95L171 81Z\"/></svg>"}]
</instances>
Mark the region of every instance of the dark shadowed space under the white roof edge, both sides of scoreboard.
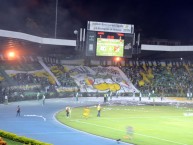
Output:
<instances>
[{"instance_id":1,"label":"dark shadowed space under the white roof edge, both sides of scoreboard","mask_svg":"<svg viewBox=\"0 0 193 145\"><path fill-rule=\"evenodd\" d=\"M16 49L20 51L20 55L61 55L65 59L73 57L84 57L75 50L72 46L60 46L60 45L46 45L38 44L26 40L19 40L14 38L0 37L0 50L5 52L8 49ZM100 58L100 57L99 57ZM107 58L108 59L108 58ZM134 60L193 60L193 51L145 51L141 50L139 54L133 54Z\"/></svg>"}]
</instances>

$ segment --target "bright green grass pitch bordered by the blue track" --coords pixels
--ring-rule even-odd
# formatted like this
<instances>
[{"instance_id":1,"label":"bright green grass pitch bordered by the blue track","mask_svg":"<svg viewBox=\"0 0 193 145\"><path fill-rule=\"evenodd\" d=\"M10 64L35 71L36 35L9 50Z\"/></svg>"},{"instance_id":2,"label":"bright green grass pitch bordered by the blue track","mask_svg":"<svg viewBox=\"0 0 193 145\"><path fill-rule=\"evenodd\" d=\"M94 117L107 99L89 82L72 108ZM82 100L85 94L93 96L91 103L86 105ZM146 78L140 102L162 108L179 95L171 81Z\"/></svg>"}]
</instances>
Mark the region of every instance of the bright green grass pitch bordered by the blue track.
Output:
<instances>
[{"instance_id":1,"label":"bright green grass pitch bordered by the blue track","mask_svg":"<svg viewBox=\"0 0 193 145\"><path fill-rule=\"evenodd\" d=\"M56 118L73 128L136 145L193 145L193 109L173 106L102 106L96 117L96 106L83 117L84 108L73 108L71 117L61 111ZM185 115L189 113L189 116ZM134 130L132 138L127 128Z\"/></svg>"}]
</instances>

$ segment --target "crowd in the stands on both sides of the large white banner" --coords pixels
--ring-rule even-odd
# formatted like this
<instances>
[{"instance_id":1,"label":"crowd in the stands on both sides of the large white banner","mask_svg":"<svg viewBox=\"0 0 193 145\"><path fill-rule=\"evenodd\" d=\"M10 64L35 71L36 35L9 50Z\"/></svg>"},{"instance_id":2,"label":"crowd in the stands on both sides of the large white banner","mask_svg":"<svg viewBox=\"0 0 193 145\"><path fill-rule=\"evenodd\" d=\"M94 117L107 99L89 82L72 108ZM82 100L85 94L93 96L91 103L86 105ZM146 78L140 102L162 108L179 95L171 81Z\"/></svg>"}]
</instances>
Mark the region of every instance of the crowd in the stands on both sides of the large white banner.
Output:
<instances>
[{"instance_id":1,"label":"crowd in the stands on both sides of the large white banner","mask_svg":"<svg viewBox=\"0 0 193 145\"><path fill-rule=\"evenodd\" d=\"M43 59L46 66L56 76L60 82L61 87L77 87L75 80L70 77L68 70L65 66L57 63L55 59L49 61ZM53 63L54 62L54 63ZM58 61L59 62L59 61ZM50 83L49 78L35 75L34 73L28 73L30 70L39 70L43 67L38 61L26 60L23 63L14 62L13 64L5 61L1 64L0 75L3 77L6 69L18 69L25 70L25 72L17 72L12 76L9 76L15 85L5 86L3 82L6 82L6 77L1 79L0 93L1 96L17 96L22 98L25 92L56 92L57 84ZM140 90L142 94L155 93L158 96L186 96L187 92L193 92L193 67L192 65L181 64L156 64L156 65L133 65L122 66L122 71L127 75L133 85Z\"/></svg>"}]
</instances>

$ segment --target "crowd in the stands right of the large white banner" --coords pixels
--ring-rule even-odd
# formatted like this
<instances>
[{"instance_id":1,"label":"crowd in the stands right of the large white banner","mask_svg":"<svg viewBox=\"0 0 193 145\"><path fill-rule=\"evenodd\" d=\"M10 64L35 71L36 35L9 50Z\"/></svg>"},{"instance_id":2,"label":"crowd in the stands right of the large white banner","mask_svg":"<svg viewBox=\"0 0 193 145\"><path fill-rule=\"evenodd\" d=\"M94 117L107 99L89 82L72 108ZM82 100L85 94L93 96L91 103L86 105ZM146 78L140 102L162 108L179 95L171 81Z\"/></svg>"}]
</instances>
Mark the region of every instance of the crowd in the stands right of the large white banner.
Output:
<instances>
[{"instance_id":1,"label":"crowd in the stands right of the large white banner","mask_svg":"<svg viewBox=\"0 0 193 145\"><path fill-rule=\"evenodd\" d=\"M193 68L187 65L152 65L121 67L133 85L144 94L154 91L157 95L186 96L193 91ZM145 70L146 68L146 70ZM152 70L153 79L144 81L143 73ZM140 85L140 81L145 83Z\"/></svg>"}]
</instances>

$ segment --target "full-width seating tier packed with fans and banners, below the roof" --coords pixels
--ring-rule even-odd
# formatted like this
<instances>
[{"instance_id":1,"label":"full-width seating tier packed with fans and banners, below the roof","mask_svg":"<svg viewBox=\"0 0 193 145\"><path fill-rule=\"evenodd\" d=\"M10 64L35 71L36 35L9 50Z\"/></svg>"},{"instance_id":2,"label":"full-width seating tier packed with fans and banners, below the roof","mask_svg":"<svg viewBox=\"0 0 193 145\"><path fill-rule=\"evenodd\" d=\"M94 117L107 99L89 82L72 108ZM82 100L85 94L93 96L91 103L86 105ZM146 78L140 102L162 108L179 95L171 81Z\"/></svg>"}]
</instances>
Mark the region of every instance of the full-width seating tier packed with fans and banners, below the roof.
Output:
<instances>
[{"instance_id":1,"label":"full-width seating tier packed with fans and banners, below the roof","mask_svg":"<svg viewBox=\"0 0 193 145\"><path fill-rule=\"evenodd\" d=\"M27 91L37 93L40 90L48 93L58 90L62 90L61 92L76 92L79 89L85 89L88 92L106 91L108 89L119 91L121 83L128 85L121 76L116 78L112 75L103 75L102 72L107 73L108 67L75 67L52 63L52 61L43 61L46 70L38 60L32 61L25 58L22 61L1 61L0 81L1 86L3 86L1 91L3 96L18 96ZM193 91L193 67L191 65L153 65L152 63L149 66L140 64L120 68L130 82L144 94L154 91L156 94L164 93L168 96L186 96L188 91ZM92 74L92 71L97 73ZM100 73L102 76L100 76ZM110 73L114 73L114 71ZM53 79L53 75L57 79ZM59 81L61 86L56 84L55 80ZM131 90L131 88L129 89Z\"/></svg>"}]
</instances>

